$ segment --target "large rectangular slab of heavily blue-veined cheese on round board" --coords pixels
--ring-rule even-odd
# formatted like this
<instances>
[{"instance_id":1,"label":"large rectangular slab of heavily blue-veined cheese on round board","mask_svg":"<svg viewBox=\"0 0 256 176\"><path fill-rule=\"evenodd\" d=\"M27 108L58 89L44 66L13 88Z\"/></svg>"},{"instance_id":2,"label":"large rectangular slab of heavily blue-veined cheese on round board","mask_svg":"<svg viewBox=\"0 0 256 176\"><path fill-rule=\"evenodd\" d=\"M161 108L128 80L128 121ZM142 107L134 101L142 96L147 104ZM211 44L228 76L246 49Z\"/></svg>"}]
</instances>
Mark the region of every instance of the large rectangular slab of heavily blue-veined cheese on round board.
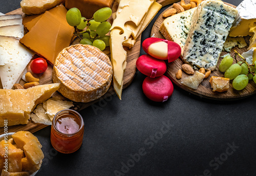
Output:
<instances>
[{"instance_id":1,"label":"large rectangular slab of heavily blue-veined cheese on round board","mask_svg":"<svg viewBox=\"0 0 256 176\"><path fill-rule=\"evenodd\" d=\"M215 70L238 11L219 1L204 1L196 9L184 46L183 61Z\"/></svg>"}]
</instances>

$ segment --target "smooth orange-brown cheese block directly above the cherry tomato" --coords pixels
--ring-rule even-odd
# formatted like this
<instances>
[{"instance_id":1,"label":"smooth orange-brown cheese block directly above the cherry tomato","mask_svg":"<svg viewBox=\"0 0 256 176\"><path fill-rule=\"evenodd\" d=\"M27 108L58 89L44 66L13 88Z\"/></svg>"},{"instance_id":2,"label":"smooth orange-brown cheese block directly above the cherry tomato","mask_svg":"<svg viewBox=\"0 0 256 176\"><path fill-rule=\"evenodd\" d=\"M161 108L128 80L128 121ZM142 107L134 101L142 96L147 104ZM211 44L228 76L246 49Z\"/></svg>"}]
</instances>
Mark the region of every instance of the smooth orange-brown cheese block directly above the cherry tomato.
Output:
<instances>
[{"instance_id":1,"label":"smooth orange-brown cheese block directly above the cherry tomato","mask_svg":"<svg viewBox=\"0 0 256 176\"><path fill-rule=\"evenodd\" d=\"M70 45L74 33L74 27L67 23L65 7L56 8L59 8L58 12L46 11L35 26L20 39L23 45L52 64L59 52Z\"/></svg>"}]
</instances>

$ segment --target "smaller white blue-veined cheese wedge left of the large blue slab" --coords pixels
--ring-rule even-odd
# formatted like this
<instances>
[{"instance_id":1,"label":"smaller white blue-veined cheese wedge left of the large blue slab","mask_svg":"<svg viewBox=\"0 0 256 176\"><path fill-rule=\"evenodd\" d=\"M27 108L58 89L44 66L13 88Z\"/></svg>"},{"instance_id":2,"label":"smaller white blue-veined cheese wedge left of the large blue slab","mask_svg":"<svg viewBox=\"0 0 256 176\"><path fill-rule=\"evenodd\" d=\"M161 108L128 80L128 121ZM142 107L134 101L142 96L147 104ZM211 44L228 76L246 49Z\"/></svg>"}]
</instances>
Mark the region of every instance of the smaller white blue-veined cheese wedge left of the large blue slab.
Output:
<instances>
[{"instance_id":1,"label":"smaller white blue-veined cheese wedge left of the large blue slab","mask_svg":"<svg viewBox=\"0 0 256 176\"><path fill-rule=\"evenodd\" d=\"M184 45L190 28L192 16L196 8L186 10L174 16L164 19L160 32L165 39L178 43L181 47L181 55L183 56Z\"/></svg>"}]
</instances>

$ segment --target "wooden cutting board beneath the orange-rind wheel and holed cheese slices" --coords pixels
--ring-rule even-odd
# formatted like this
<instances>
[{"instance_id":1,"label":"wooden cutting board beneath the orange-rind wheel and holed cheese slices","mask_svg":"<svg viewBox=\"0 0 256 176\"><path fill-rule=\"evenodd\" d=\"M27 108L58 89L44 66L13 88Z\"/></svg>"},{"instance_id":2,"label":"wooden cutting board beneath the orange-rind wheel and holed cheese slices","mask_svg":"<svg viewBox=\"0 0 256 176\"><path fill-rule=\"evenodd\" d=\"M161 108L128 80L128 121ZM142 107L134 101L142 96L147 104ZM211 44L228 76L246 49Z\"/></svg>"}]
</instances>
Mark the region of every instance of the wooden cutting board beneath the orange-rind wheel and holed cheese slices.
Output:
<instances>
[{"instance_id":1,"label":"wooden cutting board beneath the orange-rind wheel and holed cheese slices","mask_svg":"<svg viewBox=\"0 0 256 176\"><path fill-rule=\"evenodd\" d=\"M159 4L161 4L162 6L166 6L169 4L173 4L176 2L179 2L179 0L159 0L157 1ZM112 7L112 11L116 12L117 8L118 8L118 1L115 1L115 3L113 4ZM16 9L12 12L7 13L8 15L10 14L20 14L23 15L23 17L25 16L25 14L22 12L22 8ZM126 48L125 50L127 51L127 65L126 65L126 69L124 72L124 76L123 76L123 89L125 89L128 85L130 85L133 81L133 78L135 76L135 72L136 72L136 60L140 55L140 41L141 37L139 37L134 45L133 48L128 49ZM106 55L108 55L110 57L110 48L106 47L106 49L103 51ZM30 63L27 66L27 70L28 72L30 72ZM48 69L44 74L41 75L35 75L37 78L40 79L40 84L50 84L52 83L52 66L50 64L48 64ZM24 81L20 81L21 84L24 84ZM2 87L1 85L1 81L0 81L0 87ZM77 103L74 102L74 107L73 109L75 109L76 111L81 111L82 109L104 99L107 97L112 96L113 94L115 94L114 88L113 86L110 87L109 91L103 95L100 99L97 99L95 101L89 102L89 103ZM53 94L53 97L60 97L62 100L65 100L66 98L63 97L61 94L59 94L58 92ZM34 133L35 131L38 131L44 127L46 127L47 125L44 124L38 124L38 123L34 123L31 120L29 121L29 123L27 125L15 125L15 126L9 126L8 127L8 131L11 132L16 132L19 130L29 130L31 133ZM4 128L0 128L0 134L3 134Z\"/></svg>"}]
</instances>

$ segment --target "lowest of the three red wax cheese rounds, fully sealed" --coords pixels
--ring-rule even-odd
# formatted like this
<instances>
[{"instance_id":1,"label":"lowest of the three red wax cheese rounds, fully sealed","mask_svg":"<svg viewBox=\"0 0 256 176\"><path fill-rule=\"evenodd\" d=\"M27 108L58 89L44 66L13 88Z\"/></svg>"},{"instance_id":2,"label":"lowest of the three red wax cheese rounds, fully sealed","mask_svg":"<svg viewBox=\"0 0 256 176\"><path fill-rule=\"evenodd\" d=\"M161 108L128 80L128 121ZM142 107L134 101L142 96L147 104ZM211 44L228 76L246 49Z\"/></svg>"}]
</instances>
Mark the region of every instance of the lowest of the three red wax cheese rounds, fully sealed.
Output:
<instances>
[{"instance_id":1,"label":"lowest of the three red wax cheese rounds, fully sealed","mask_svg":"<svg viewBox=\"0 0 256 176\"><path fill-rule=\"evenodd\" d=\"M142 90L145 96L152 101L166 101L174 92L172 81L162 75L156 78L146 77L142 84Z\"/></svg>"}]
</instances>

